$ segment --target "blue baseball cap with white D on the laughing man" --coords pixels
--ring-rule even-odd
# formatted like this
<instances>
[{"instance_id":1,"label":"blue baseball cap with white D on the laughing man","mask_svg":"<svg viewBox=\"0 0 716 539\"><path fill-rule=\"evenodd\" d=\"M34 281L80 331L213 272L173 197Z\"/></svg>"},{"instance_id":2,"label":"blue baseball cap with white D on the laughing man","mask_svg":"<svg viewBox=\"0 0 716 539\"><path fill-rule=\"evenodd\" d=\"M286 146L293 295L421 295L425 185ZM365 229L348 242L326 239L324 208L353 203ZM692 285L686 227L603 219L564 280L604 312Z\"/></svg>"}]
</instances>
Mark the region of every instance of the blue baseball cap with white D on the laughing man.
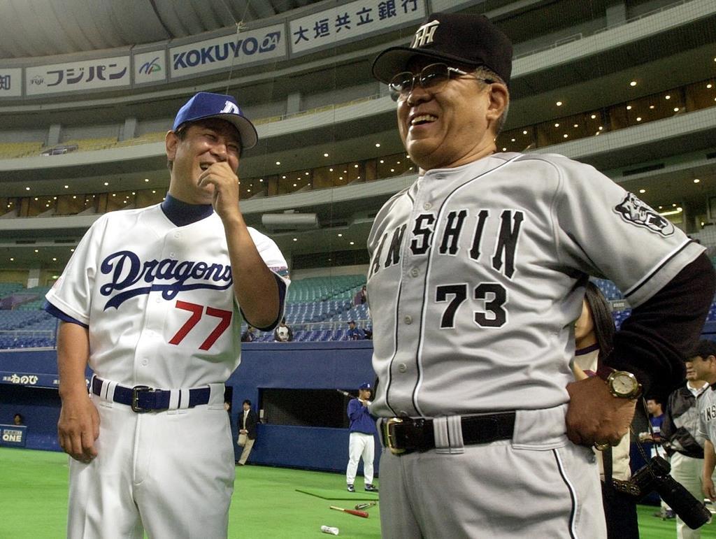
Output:
<instances>
[{"instance_id":1,"label":"blue baseball cap with white D on the laughing man","mask_svg":"<svg viewBox=\"0 0 716 539\"><path fill-rule=\"evenodd\" d=\"M188 122L206 120L207 118L226 120L236 127L241 138L242 150L256 146L256 142L258 142L256 127L253 127L253 124L243 115L236 104L236 99L231 95L212 94L211 92L195 94L177 112L172 130L176 132Z\"/></svg>"}]
</instances>

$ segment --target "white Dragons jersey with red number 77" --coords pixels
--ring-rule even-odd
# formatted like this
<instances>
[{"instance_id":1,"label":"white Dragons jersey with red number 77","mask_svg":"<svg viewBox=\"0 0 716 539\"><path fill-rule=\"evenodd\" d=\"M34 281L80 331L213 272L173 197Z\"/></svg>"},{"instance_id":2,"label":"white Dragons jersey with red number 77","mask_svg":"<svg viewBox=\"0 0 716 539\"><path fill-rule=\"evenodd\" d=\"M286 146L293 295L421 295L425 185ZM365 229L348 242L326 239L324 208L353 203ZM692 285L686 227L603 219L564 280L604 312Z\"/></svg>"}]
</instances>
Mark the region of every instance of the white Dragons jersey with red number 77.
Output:
<instances>
[{"instance_id":1,"label":"white Dragons jersey with red number 77","mask_svg":"<svg viewBox=\"0 0 716 539\"><path fill-rule=\"evenodd\" d=\"M248 230L266 266L286 275L274 241ZM160 205L102 215L47 301L89 326L95 374L128 387L225 382L240 361L241 311L216 213L185 226Z\"/></svg>"}]
</instances>

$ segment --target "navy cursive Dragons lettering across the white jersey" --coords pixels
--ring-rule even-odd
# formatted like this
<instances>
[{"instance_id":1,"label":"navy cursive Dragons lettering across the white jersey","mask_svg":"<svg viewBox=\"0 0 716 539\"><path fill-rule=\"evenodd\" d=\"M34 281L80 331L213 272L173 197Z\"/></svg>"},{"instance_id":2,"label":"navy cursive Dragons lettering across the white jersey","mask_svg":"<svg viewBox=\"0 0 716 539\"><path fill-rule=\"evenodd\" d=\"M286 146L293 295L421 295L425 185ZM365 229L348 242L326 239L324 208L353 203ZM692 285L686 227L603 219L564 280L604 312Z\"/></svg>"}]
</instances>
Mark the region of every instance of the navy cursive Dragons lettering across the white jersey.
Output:
<instances>
[{"instance_id":1,"label":"navy cursive Dragons lettering across the white jersey","mask_svg":"<svg viewBox=\"0 0 716 539\"><path fill-rule=\"evenodd\" d=\"M112 281L100 286L102 296L111 296L115 291L122 291L107 301L105 311L110 307L117 309L127 299L153 291L161 291L162 297L170 300L185 290L196 290L197 288L226 290L233 282L231 266L228 265L216 263L210 265L205 262L193 261L179 262L172 258L142 263L139 256L132 251L118 251L107 256L100 265L100 271L105 275L111 274L112 278ZM193 282L187 282L190 280ZM149 283L150 286L138 286L125 290L140 281ZM157 283L155 281L168 282ZM218 284L211 284L211 282Z\"/></svg>"}]
</instances>

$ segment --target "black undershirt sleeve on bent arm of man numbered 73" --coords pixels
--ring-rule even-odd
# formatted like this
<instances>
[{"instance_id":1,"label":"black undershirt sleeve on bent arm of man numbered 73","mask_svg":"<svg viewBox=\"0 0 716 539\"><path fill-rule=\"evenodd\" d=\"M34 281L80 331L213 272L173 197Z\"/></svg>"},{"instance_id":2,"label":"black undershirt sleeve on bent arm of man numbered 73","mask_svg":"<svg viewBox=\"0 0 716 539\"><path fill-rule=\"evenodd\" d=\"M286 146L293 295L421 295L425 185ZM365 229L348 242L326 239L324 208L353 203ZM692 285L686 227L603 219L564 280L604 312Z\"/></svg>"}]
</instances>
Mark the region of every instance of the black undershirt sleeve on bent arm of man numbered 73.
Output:
<instances>
[{"instance_id":1,"label":"black undershirt sleeve on bent arm of man numbered 73","mask_svg":"<svg viewBox=\"0 0 716 539\"><path fill-rule=\"evenodd\" d=\"M644 394L666 402L684 381L684 359L699 340L715 289L714 268L702 254L632 311L605 364L634 373Z\"/></svg>"}]
</instances>

